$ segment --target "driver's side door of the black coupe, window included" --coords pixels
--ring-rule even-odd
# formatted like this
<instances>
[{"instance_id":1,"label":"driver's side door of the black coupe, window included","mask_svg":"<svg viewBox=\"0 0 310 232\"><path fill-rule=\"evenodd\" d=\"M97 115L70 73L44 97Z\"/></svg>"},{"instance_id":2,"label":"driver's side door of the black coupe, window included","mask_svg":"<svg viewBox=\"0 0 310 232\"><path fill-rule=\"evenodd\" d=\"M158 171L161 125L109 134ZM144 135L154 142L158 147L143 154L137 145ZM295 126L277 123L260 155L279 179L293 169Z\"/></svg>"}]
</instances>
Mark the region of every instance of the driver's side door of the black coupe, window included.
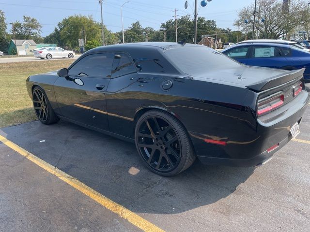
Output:
<instances>
[{"instance_id":1,"label":"driver's side door of the black coupe, window included","mask_svg":"<svg viewBox=\"0 0 310 232\"><path fill-rule=\"evenodd\" d=\"M113 53L94 53L69 68L68 78L54 83L56 100L63 117L78 123L109 130L106 89L111 78ZM77 84L74 79L80 79Z\"/></svg>"}]
</instances>

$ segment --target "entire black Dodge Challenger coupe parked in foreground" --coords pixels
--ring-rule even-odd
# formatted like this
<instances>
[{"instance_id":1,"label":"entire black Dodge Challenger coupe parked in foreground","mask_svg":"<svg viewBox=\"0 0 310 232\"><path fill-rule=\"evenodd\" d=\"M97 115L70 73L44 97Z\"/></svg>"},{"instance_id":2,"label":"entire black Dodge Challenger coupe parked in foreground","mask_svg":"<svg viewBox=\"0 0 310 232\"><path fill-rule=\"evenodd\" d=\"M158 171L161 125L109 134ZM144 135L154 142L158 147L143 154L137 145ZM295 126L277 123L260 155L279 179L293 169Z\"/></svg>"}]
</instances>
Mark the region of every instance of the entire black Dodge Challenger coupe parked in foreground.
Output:
<instances>
[{"instance_id":1,"label":"entire black Dodge Challenger coupe parked in foreground","mask_svg":"<svg viewBox=\"0 0 310 232\"><path fill-rule=\"evenodd\" d=\"M246 66L202 45L127 43L26 84L42 123L62 118L134 142L150 170L171 176L196 157L243 167L270 160L299 133L303 72Z\"/></svg>"}]
</instances>

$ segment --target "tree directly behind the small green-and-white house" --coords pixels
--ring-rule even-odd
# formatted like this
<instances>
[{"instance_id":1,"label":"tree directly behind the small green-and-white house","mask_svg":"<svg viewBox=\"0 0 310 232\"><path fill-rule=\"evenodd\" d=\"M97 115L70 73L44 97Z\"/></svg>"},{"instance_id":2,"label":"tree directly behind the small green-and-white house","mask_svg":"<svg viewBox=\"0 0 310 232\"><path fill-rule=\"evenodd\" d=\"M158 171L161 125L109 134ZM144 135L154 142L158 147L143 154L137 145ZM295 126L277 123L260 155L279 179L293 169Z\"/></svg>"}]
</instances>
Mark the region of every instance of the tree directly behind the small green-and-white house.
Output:
<instances>
[{"instance_id":1,"label":"tree directly behind the small green-and-white house","mask_svg":"<svg viewBox=\"0 0 310 232\"><path fill-rule=\"evenodd\" d=\"M41 24L35 18L31 18L30 16L23 16L23 22L16 21L14 23L15 35L18 40L29 40L29 39L40 39L40 32L42 29ZM11 29L11 33L13 33L13 28Z\"/></svg>"}]
</instances>

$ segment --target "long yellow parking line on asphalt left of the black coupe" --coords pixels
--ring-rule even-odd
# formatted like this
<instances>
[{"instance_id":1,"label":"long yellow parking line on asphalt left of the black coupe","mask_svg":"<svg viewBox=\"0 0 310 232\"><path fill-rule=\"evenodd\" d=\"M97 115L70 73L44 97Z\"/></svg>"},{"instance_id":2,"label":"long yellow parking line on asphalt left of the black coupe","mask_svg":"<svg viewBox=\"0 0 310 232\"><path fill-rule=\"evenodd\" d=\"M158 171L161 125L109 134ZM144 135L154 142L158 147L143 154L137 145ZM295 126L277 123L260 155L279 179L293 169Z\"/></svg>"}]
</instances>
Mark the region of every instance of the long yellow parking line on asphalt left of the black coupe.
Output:
<instances>
[{"instance_id":1,"label":"long yellow parking line on asphalt left of the black coupe","mask_svg":"<svg viewBox=\"0 0 310 232\"><path fill-rule=\"evenodd\" d=\"M112 212L116 213L120 217L127 219L131 224L137 226L142 231L145 232L164 232L162 229L158 228L151 222L147 221L146 219L138 216L137 214L133 213L132 211L126 209L124 206L113 202L109 198L101 195L99 192L93 190L92 188L88 187L87 185L80 182L78 179L72 177L69 174L66 174L59 170L58 168L50 165L44 160L36 157L35 155L31 154L30 152L26 151L22 147L16 145L15 143L7 140L5 137L0 135L0 141L7 145L8 147L12 148L31 162L37 164L47 172L56 175L58 178L66 182L67 184L71 185L73 188L78 189L80 192L84 193L85 195L92 198L97 203L100 203L102 206L106 207L107 209L111 210Z\"/></svg>"}]
</instances>

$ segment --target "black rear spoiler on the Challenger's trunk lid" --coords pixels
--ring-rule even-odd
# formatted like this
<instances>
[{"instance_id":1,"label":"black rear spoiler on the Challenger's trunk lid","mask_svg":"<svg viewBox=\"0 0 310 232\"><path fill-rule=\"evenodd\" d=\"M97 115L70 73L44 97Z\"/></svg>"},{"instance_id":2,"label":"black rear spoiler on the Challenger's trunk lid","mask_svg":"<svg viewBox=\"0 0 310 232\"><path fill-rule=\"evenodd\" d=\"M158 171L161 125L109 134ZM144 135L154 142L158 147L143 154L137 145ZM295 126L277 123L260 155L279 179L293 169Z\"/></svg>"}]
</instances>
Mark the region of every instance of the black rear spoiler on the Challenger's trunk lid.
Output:
<instances>
[{"instance_id":1,"label":"black rear spoiler on the Challenger's trunk lid","mask_svg":"<svg viewBox=\"0 0 310 232\"><path fill-rule=\"evenodd\" d=\"M268 78L263 81L256 82L246 87L254 91L263 91L263 90L266 90L272 87L280 86L294 79L300 78L304 72L305 72L305 68L293 70L288 73L282 73L272 78Z\"/></svg>"}]
</instances>

